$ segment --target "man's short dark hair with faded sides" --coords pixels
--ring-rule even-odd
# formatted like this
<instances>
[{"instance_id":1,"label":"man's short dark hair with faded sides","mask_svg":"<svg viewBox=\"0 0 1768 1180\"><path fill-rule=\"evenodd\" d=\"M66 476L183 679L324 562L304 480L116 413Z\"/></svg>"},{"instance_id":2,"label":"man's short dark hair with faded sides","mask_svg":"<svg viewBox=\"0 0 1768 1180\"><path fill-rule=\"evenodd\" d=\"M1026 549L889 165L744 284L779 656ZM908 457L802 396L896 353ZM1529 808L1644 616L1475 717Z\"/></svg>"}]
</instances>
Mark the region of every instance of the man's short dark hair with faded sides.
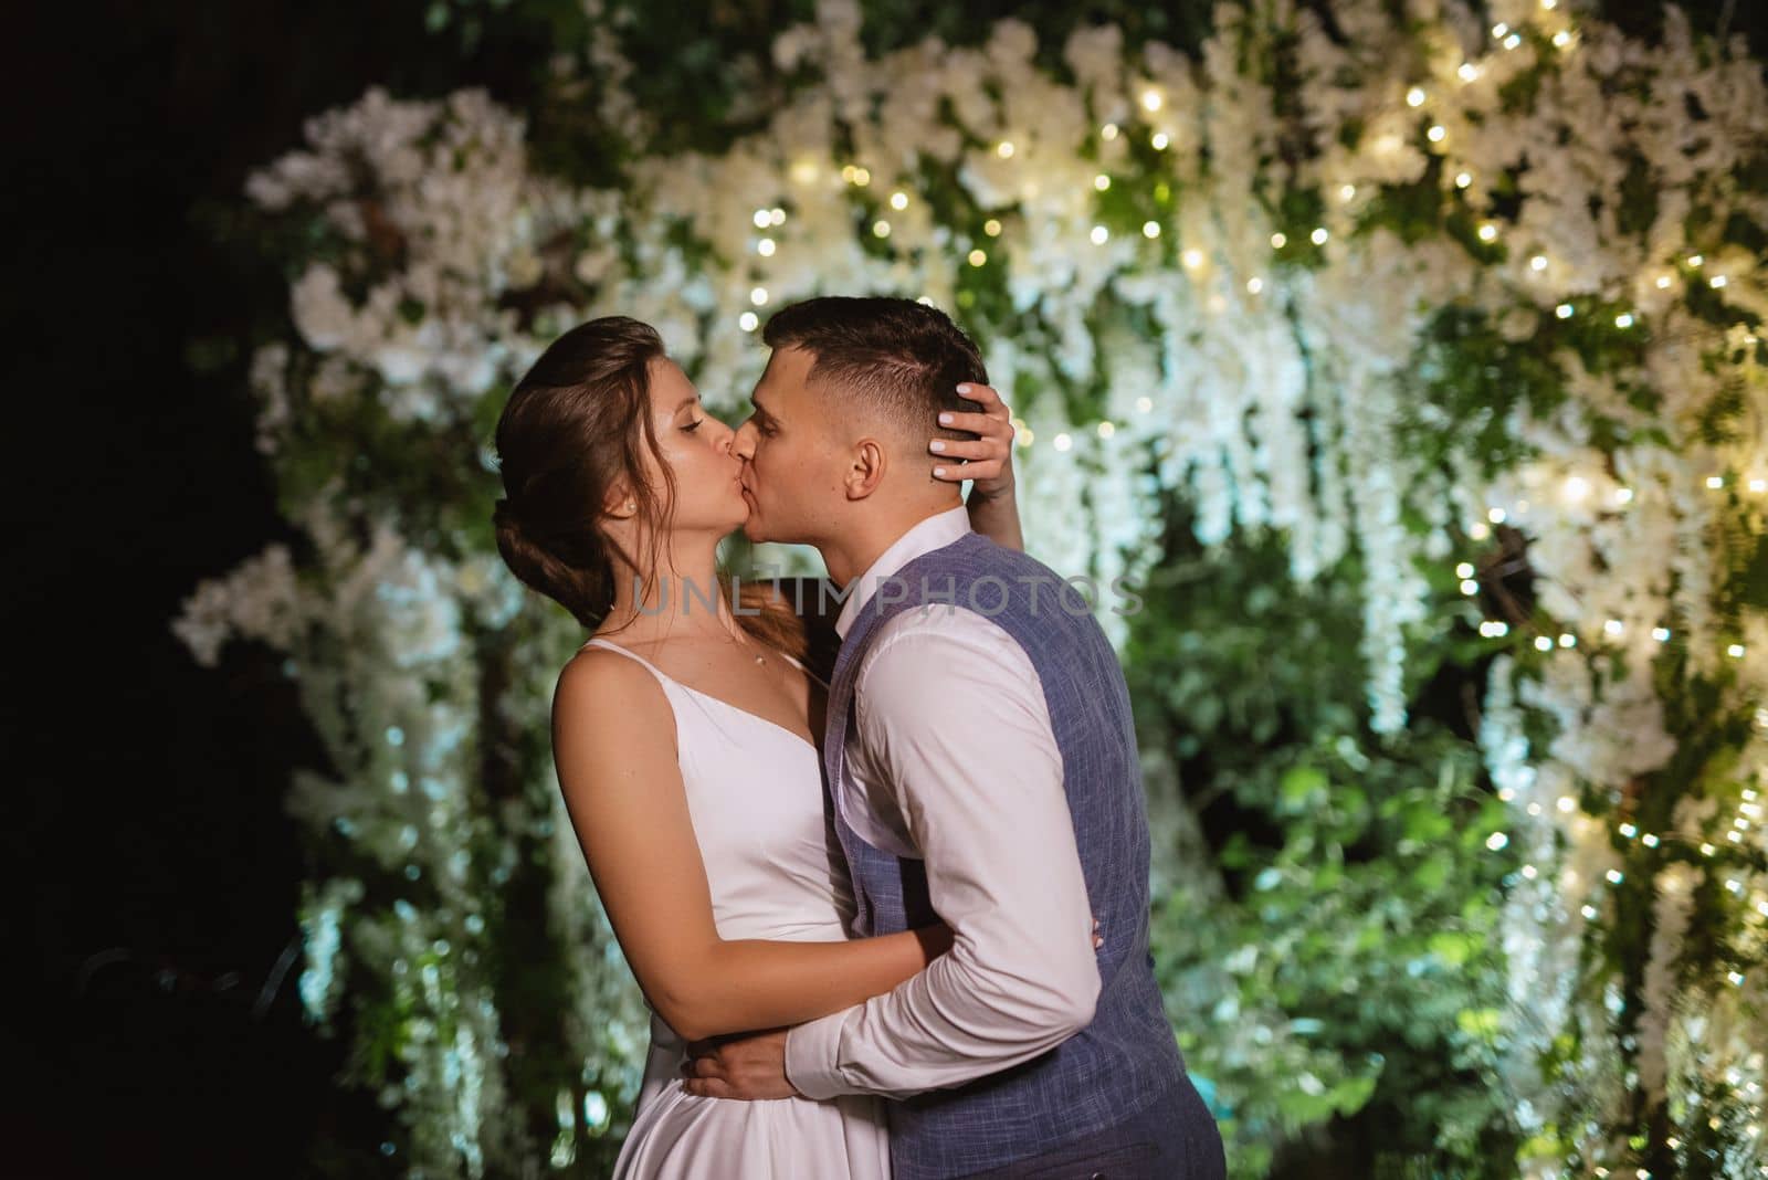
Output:
<instances>
[{"instance_id":1,"label":"man's short dark hair with faded sides","mask_svg":"<svg viewBox=\"0 0 1768 1180\"><path fill-rule=\"evenodd\" d=\"M974 341L946 313L912 299L824 295L781 307L762 329L769 348L815 357L812 382L838 382L905 431L974 438L942 429L941 410L974 412L958 382L988 383Z\"/></svg>"}]
</instances>

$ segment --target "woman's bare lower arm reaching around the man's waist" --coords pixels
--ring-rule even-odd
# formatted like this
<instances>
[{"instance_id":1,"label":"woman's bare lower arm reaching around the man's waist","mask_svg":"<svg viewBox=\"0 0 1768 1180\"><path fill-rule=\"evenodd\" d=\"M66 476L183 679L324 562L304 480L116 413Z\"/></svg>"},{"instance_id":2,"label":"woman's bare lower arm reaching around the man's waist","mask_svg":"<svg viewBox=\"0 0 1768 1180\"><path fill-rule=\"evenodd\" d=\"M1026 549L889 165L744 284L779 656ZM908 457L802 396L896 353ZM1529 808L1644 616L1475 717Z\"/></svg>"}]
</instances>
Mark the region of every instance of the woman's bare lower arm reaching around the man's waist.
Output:
<instances>
[{"instance_id":1,"label":"woman's bare lower arm reaching around the man's waist","mask_svg":"<svg viewBox=\"0 0 1768 1180\"><path fill-rule=\"evenodd\" d=\"M553 694L553 763L638 986L688 1040L797 1025L882 995L951 947L944 926L849 942L727 942L713 924L675 721L635 661L594 648Z\"/></svg>"}]
</instances>

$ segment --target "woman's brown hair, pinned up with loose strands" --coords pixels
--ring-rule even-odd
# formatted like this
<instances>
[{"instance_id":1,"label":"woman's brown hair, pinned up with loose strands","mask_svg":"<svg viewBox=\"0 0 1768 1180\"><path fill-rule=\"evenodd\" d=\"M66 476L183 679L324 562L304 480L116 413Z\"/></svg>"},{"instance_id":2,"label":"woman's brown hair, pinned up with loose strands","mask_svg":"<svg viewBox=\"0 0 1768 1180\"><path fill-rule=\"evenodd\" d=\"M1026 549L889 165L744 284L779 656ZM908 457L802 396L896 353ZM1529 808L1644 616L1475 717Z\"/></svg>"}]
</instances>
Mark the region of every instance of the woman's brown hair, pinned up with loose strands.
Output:
<instances>
[{"instance_id":1,"label":"woman's brown hair, pinned up with loose strands","mask_svg":"<svg viewBox=\"0 0 1768 1180\"><path fill-rule=\"evenodd\" d=\"M658 456L651 426L651 364L663 337L628 316L580 323L539 355L516 382L497 420L504 496L492 511L497 551L525 585L553 599L596 631L613 606L612 542L601 530L608 493L624 477L649 528L644 592L658 574L661 539L674 523L675 480L661 459L667 496L645 479L644 450ZM720 592L732 601L730 583ZM804 654L799 620L769 586L746 583L737 622L757 639ZM762 613L750 613L760 609Z\"/></svg>"}]
</instances>

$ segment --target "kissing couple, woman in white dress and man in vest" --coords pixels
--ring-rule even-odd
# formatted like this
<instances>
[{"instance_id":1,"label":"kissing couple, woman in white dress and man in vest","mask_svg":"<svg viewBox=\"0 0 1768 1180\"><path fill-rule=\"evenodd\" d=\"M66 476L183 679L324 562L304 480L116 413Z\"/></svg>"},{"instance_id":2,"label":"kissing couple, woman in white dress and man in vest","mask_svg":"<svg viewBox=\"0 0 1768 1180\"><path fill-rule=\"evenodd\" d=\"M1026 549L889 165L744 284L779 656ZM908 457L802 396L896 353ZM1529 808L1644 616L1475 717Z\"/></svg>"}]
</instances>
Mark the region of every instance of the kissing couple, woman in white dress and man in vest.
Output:
<instances>
[{"instance_id":1,"label":"kissing couple, woman in white dress and man in vest","mask_svg":"<svg viewBox=\"0 0 1768 1180\"><path fill-rule=\"evenodd\" d=\"M979 352L907 299L762 339L737 429L622 316L497 424L499 551L592 632L553 761L652 1014L615 1176L1222 1180L1155 984L1123 671L1034 597L1061 579ZM783 585L720 578L737 528L822 553L826 678Z\"/></svg>"}]
</instances>

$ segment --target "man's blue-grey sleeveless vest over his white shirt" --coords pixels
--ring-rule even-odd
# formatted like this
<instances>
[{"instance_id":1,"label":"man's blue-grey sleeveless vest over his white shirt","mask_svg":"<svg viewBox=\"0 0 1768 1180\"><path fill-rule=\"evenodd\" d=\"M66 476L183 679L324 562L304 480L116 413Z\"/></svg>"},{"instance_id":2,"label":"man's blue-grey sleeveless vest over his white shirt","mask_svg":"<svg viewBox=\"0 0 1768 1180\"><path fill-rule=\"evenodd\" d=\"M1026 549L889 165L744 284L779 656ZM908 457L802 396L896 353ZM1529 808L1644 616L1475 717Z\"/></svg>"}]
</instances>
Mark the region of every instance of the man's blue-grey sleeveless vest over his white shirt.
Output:
<instances>
[{"instance_id":1,"label":"man's blue-grey sleeveless vest over his white shirt","mask_svg":"<svg viewBox=\"0 0 1768 1180\"><path fill-rule=\"evenodd\" d=\"M976 613L1031 657L1063 754L1080 869L1105 945L1093 1023L1054 1049L964 1086L888 1102L896 1180L948 1180L1031 1159L1103 1131L1185 1072L1147 949L1147 804L1117 654L1073 586L981 533L925 553L873 594L842 641L829 682L824 770L842 790L854 677L879 627L905 609ZM939 920L921 860L865 841L834 806L854 883L857 936Z\"/></svg>"}]
</instances>

